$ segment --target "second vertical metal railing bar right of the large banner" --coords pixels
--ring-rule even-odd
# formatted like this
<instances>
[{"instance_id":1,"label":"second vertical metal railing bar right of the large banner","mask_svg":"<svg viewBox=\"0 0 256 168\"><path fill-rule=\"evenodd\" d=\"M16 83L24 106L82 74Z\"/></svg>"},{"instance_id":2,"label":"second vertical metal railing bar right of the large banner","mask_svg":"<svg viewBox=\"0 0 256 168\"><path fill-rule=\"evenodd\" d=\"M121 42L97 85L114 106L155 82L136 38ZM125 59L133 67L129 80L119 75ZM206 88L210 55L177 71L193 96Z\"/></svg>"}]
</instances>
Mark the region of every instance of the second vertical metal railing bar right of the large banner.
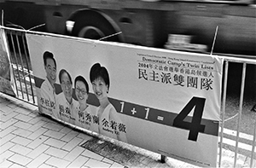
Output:
<instances>
[{"instance_id":1,"label":"second vertical metal railing bar right of the large banner","mask_svg":"<svg viewBox=\"0 0 256 168\"><path fill-rule=\"evenodd\" d=\"M238 121L237 121L237 129L236 129L236 152L235 152L234 167L236 167L236 160L237 160L237 153L238 153L238 142L239 142L240 122L241 122L241 110L242 110L246 70L247 70L247 64L243 63L242 64L242 76L241 76L240 101L239 101L239 115L238 115Z\"/></svg>"}]
</instances>

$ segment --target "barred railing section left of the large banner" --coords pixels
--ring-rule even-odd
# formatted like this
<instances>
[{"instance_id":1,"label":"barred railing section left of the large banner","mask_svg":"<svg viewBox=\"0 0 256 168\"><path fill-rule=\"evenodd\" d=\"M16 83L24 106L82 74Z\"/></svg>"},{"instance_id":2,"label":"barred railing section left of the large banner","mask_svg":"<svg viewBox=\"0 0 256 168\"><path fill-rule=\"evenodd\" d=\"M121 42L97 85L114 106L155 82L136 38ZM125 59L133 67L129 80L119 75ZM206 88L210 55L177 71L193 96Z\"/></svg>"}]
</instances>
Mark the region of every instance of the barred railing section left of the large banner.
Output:
<instances>
[{"instance_id":1,"label":"barred railing section left of the large banner","mask_svg":"<svg viewBox=\"0 0 256 168\"><path fill-rule=\"evenodd\" d=\"M11 68L15 80L16 97L37 105L32 65L26 44L26 32L5 30Z\"/></svg>"}]
</instances>

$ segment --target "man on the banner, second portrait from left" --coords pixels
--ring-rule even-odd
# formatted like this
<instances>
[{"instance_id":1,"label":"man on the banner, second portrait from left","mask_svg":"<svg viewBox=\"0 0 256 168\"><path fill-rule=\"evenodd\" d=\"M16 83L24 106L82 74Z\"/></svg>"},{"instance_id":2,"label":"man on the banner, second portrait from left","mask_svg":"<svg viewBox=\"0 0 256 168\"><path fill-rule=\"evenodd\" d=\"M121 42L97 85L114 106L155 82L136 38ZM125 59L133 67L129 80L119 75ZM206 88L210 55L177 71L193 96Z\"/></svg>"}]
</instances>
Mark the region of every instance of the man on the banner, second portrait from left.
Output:
<instances>
[{"instance_id":1,"label":"man on the banner, second portrait from left","mask_svg":"<svg viewBox=\"0 0 256 168\"><path fill-rule=\"evenodd\" d=\"M72 78L65 69L61 69L59 79L62 90L62 92L56 96L59 119L74 125L74 112L79 102L73 99Z\"/></svg>"}]
</instances>

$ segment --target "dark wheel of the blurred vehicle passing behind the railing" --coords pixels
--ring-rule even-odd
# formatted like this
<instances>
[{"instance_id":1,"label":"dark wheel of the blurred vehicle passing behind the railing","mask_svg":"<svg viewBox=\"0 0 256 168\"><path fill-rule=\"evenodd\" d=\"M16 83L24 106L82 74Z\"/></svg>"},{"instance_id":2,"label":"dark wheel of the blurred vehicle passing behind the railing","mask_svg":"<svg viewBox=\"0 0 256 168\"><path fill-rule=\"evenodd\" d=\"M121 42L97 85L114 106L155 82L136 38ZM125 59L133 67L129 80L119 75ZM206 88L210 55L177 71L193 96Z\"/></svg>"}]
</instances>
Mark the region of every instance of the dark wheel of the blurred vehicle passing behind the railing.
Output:
<instances>
[{"instance_id":1,"label":"dark wheel of the blurred vehicle passing behind the railing","mask_svg":"<svg viewBox=\"0 0 256 168\"><path fill-rule=\"evenodd\" d=\"M80 15L73 27L73 36L79 38L102 39L102 41L122 42L119 35L109 38L107 36L119 32L118 28L111 24L111 21L102 14L89 11L87 14Z\"/></svg>"}]
</instances>

